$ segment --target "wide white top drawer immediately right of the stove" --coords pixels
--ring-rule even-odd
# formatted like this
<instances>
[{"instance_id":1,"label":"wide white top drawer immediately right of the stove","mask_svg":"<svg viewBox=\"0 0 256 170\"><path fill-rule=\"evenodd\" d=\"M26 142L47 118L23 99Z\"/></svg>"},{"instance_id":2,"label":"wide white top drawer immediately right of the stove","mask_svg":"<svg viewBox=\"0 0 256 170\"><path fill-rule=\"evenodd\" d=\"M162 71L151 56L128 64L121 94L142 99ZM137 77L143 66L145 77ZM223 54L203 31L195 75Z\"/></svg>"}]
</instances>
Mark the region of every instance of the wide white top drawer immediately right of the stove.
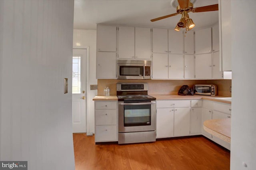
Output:
<instances>
[{"instance_id":1,"label":"wide white top drawer immediately right of the stove","mask_svg":"<svg viewBox=\"0 0 256 170\"><path fill-rule=\"evenodd\" d=\"M189 107L190 100L156 100L156 108Z\"/></svg>"}]
</instances>

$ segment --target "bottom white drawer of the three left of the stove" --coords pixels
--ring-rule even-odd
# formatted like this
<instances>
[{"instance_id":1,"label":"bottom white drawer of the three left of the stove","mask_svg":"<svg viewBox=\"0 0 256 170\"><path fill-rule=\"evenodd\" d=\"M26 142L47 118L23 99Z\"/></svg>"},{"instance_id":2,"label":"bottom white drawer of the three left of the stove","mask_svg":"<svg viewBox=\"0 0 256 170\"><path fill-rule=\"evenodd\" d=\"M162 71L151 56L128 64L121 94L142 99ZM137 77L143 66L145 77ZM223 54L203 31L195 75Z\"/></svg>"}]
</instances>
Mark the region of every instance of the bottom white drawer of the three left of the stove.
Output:
<instances>
[{"instance_id":1,"label":"bottom white drawer of the three left of the stove","mask_svg":"<svg viewBox=\"0 0 256 170\"><path fill-rule=\"evenodd\" d=\"M95 142L117 141L116 125L95 126Z\"/></svg>"}]
</instances>

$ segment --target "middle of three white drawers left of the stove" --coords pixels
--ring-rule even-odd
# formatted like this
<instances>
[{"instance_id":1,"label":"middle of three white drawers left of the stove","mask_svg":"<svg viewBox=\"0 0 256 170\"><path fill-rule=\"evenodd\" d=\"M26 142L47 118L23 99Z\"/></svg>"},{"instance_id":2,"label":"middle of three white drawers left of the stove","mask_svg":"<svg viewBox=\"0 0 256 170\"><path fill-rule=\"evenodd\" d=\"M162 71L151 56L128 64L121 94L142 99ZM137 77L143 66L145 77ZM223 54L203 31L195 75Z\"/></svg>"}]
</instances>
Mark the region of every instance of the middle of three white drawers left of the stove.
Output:
<instances>
[{"instance_id":1,"label":"middle of three white drawers left of the stove","mask_svg":"<svg viewBox=\"0 0 256 170\"><path fill-rule=\"evenodd\" d=\"M95 125L116 125L116 110L95 110Z\"/></svg>"}]
</instances>

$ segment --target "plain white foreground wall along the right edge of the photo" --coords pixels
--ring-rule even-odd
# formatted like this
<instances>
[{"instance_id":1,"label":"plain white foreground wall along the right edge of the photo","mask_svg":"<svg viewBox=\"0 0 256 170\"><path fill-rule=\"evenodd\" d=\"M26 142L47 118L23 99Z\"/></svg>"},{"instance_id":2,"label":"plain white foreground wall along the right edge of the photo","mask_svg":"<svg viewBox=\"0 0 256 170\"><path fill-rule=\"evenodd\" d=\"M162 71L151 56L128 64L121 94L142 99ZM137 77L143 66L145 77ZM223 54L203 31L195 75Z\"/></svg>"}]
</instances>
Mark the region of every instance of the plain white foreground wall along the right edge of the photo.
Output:
<instances>
[{"instance_id":1,"label":"plain white foreground wall along the right edge of the photo","mask_svg":"<svg viewBox=\"0 0 256 170\"><path fill-rule=\"evenodd\" d=\"M232 0L231 3L231 170L256 170L255 8L255 0Z\"/></svg>"}]
</instances>

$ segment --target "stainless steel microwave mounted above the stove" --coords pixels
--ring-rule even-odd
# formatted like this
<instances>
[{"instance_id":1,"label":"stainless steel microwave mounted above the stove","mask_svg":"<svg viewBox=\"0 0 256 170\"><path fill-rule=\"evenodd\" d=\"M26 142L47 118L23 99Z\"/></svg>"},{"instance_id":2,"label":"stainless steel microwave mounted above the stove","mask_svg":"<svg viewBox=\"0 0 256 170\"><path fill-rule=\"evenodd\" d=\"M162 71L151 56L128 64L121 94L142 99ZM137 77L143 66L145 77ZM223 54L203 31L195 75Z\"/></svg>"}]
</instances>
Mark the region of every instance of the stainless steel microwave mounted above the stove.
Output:
<instances>
[{"instance_id":1,"label":"stainless steel microwave mounted above the stove","mask_svg":"<svg viewBox=\"0 0 256 170\"><path fill-rule=\"evenodd\" d=\"M151 61L118 60L118 79L151 79Z\"/></svg>"}]
</instances>

